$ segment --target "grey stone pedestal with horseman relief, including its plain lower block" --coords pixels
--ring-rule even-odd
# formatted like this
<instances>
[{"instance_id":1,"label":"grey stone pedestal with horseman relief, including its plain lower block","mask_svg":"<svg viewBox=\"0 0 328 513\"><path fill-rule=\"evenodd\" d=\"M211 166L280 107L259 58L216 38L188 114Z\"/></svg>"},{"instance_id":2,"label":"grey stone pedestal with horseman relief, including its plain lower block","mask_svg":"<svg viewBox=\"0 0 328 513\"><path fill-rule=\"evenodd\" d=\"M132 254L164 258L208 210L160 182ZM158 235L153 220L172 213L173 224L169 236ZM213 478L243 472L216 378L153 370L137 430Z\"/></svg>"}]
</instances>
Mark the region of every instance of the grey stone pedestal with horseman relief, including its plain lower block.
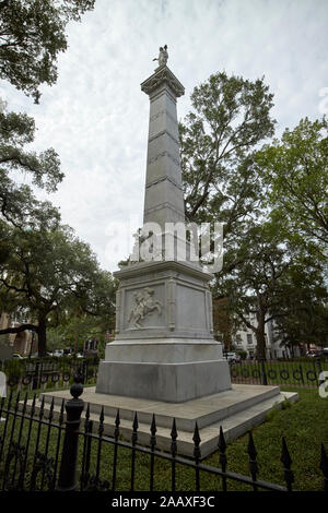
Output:
<instances>
[{"instance_id":1,"label":"grey stone pedestal with horseman relief, including its plain lower block","mask_svg":"<svg viewBox=\"0 0 328 513\"><path fill-rule=\"evenodd\" d=\"M138 263L115 275L117 336L101 361L97 393L181 403L231 387L212 335L211 275L175 261Z\"/></svg>"}]
</instances>

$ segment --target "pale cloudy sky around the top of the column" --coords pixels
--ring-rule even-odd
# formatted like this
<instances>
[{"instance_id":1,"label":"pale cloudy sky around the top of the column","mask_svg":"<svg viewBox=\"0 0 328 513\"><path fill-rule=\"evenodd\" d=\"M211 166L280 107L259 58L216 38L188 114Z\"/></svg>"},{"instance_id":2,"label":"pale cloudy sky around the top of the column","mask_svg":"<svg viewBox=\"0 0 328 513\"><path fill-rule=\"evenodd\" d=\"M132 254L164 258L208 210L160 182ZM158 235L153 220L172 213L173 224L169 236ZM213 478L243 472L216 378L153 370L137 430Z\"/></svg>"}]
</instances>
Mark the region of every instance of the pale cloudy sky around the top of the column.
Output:
<instances>
[{"instance_id":1,"label":"pale cloudy sky around the top of the column","mask_svg":"<svg viewBox=\"0 0 328 513\"><path fill-rule=\"evenodd\" d=\"M327 0L96 0L67 34L58 81L40 88L39 105L3 81L0 97L34 117L36 151L58 153L65 179L47 199L112 272L142 224L149 98L140 84L160 46L186 88L178 119L194 87L219 71L265 75L277 136L328 114Z\"/></svg>"}]
</instances>

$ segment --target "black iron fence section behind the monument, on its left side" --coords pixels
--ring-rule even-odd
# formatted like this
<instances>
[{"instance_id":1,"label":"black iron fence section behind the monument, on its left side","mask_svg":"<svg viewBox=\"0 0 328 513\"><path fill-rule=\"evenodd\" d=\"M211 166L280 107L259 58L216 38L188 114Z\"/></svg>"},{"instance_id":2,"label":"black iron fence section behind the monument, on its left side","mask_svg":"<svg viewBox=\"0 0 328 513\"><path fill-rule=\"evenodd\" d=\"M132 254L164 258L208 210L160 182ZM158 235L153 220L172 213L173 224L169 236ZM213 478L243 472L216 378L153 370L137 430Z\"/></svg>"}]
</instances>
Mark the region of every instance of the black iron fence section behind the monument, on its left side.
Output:
<instances>
[{"instance_id":1,"label":"black iron fence section behind the monument, on its left side","mask_svg":"<svg viewBox=\"0 0 328 513\"><path fill-rule=\"evenodd\" d=\"M96 382L98 360L94 358L26 359L0 362L0 370L7 377L7 386L17 391L69 387L78 369L83 374L84 383Z\"/></svg>"}]
</instances>

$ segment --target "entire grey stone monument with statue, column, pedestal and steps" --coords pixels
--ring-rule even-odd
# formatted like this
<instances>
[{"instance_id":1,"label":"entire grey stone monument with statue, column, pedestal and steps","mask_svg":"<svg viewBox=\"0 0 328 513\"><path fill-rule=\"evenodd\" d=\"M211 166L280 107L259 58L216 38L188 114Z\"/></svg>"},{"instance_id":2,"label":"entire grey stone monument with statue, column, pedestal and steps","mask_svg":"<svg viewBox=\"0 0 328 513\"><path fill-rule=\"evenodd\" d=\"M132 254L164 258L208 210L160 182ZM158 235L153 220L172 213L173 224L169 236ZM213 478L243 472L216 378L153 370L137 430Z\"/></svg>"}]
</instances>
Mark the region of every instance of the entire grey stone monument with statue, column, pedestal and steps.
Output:
<instances>
[{"instance_id":1,"label":"entire grey stone monument with statue, column, pedestal and steps","mask_svg":"<svg viewBox=\"0 0 328 513\"><path fill-rule=\"evenodd\" d=\"M106 346L96 389L85 387L83 401L95 422L104 411L104 432L109 436L115 433L119 408L120 434L127 440L137 413L138 443L145 445L155 415L156 448L164 451L171 451L174 417L178 453L187 456L194 455L197 422L206 456L218 449L220 427L225 440L232 440L261 422L285 398L298 396L280 392L279 386L231 384L222 346L213 339L211 275L191 259L191 247L185 260L175 250L167 258L167 241L172 242L166 238L167 224L185 220L176 116L184 86L167 68L167 58L165 45L156 59L159 68L141 84L150 97L143 225L160 227L156 238L164 240L165 259L163 243L153 244L152 259L131 259L115 273L119 278L116 339ZM177 246L179 237L173 237ZM140 239L149 241L147 234L137 235L136 249ZM70 398L69 391L43 393L36 411L44 408L58 417L61 401ZM32 407L31 399L27 411Z\"/></svg>"}]
</instances>

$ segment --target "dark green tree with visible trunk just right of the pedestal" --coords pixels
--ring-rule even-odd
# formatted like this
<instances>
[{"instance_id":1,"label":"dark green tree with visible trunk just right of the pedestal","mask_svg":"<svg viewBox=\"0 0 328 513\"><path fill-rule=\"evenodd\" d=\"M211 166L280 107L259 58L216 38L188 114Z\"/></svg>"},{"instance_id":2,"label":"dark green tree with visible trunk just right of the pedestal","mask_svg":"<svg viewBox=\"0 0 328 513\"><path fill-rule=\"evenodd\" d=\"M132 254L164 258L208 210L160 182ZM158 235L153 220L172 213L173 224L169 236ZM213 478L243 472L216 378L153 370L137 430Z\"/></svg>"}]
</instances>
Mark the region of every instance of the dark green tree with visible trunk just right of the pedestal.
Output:
<instances>
[{"instance_id":1,"label":"dark green tree with visible trunk just right of the pedestal","mask_svg":"<svg viewBox=\"0 0 328 513\"><path fill-rule=\"evenodd\" d=\"M229 298L232 314L254 332L257 356L265 359L266 323L285 314L280 303L290 259L279 228L268 222L254 225L225 260L227 270L215 275L214 290Z\"/></svg>"}]
</instances>

